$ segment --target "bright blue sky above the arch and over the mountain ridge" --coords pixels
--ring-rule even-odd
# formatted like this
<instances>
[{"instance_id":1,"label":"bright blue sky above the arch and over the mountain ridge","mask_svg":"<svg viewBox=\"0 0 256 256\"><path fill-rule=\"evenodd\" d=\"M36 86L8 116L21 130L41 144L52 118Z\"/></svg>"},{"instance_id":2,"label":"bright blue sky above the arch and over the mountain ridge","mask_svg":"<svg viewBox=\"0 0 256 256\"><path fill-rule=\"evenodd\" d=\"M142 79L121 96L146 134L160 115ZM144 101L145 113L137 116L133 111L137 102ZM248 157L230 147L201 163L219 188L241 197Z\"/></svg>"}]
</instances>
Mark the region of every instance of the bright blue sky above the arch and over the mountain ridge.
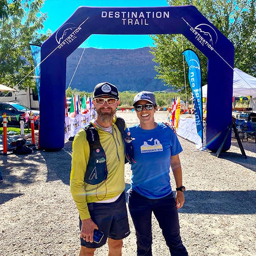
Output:
<instances>
[{"instance_id":1,"label":"bright blue sky above the arch and over the mountain ridge","mask_svg":"<svg viewBox=\"0 0 256 256\"><path fill-rule=\"evenodd\" d=\"M168 6L167 0L46 0L42 12L47 13L44 23L46 32L58 29L79 6L102 7L143 7ZM135 49L153 46L153 40L148 35L91 35L81 47Z\"/></svg>"}]
</instances>

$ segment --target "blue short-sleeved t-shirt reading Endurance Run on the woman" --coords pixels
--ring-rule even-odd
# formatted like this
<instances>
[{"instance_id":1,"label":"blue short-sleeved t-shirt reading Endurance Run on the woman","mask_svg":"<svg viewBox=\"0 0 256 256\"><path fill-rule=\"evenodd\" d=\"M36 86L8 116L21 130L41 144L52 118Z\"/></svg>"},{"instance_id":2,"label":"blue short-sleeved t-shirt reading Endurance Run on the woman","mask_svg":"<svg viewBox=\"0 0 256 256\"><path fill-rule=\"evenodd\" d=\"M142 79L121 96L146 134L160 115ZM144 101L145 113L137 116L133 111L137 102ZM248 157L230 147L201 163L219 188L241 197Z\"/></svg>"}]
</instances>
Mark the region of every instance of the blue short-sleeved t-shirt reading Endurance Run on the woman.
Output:
<instances>
[{"instance_id":1,"label":"blue short-sleeved t-shirt reading Endurance Run on the woman","mask_svg":"<svg viewBox=\"0 0 256 256\"><path fill-rule=\"evenodd\" d=\"M131 164L131 187L139 194L158 199L172 192L170 184L171 155L182 152L182 146L173 130L158 123L157 127L145 130L138 125L126 129L134 138L134 160Z\"/></svg>"}]
</instances>

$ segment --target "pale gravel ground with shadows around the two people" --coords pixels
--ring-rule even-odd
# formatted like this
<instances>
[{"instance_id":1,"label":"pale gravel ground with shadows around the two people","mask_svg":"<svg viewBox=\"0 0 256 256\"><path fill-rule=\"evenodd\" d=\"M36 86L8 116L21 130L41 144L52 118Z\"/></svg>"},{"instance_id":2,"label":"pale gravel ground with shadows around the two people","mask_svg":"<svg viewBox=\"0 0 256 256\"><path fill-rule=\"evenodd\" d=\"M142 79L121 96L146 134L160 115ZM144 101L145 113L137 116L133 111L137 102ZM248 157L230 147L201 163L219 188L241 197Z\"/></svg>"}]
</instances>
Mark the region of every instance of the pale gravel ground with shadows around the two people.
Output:
<instances>
[{"instance_id":1,"label":"pale gravel ground with shadows around the two people","mask_svg":"<svg viewBox=\"0 0 256 256\"><path fill-rule=\"evenodd\" d=\"M127 124L135 113L118 113ZM164 121L164 112L156 113ZM233 140L227 153L197 151L179 138L185 205L179 210L181 236L190 256L256 255L256 144ZM75 256L80 248L78 211L69 192L72 142L62 150L0 156L0 256ZM130 183L126 164L125 180ZM172 183L174 179L171 174ZM136 255L136 237L124 239L123 255ZM107 246L95 253L107 256ZM153 217L153 255L170 255Z\"/></svg>"}]
</instances>

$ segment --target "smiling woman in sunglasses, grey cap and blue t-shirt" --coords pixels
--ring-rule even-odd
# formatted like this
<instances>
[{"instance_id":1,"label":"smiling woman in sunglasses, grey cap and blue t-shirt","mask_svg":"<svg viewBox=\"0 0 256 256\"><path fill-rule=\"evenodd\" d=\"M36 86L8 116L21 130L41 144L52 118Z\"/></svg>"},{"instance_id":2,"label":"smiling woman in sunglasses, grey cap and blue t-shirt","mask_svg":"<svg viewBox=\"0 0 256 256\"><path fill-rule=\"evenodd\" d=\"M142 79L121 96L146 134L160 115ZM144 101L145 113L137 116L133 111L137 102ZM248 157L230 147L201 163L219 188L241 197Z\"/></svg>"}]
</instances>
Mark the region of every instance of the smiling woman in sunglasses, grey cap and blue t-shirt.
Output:
<instances>
[{"instance_id":1,"label":"smiling woman in sunglasses, grey cap and blue t-shirt","mask_svg":"<svg viewBox=\"0 0 256 256\"><path fill-rule=\"evenodd\" d=\"M156 102L150 91L134 97L139 125L126 129L134 149L128 206L137 236L137 255L152 255L152 212L162 229L171 255L187 256L180 237L178 208L184 204L185 187L179 153L182 147L173 130L155 122ZM176 197L170 184L174 174Z\"/></svg>"}]
</instances>

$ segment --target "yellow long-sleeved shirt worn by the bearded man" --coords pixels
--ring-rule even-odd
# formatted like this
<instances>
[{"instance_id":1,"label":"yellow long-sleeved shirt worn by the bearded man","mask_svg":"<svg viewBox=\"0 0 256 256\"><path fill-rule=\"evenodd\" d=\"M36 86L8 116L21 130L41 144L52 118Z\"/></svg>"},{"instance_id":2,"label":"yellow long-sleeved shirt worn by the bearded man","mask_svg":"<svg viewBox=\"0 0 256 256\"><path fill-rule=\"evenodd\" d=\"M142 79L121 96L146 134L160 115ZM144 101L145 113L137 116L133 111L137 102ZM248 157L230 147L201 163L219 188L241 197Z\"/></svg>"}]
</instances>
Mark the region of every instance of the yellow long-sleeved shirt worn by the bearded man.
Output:
<instances>
[{"instance_id":1,"label":"yellow long-sleeved shirt worn by the bearded man","mask_svg":"<svg viewBox=\"0 0 256 256\"><path fill-rule=\"evenodd\" d=\"M90 155L86 131L81 129L73 141L70 191L81 219L91 217L87 202L109 200L125 189L125 155L121 133L116 125L113 125L113 134L103 131L97 126L96 129L107 158L108 178L105 182L91 185L83 181Z\"/></svg>"}]
</instances>

